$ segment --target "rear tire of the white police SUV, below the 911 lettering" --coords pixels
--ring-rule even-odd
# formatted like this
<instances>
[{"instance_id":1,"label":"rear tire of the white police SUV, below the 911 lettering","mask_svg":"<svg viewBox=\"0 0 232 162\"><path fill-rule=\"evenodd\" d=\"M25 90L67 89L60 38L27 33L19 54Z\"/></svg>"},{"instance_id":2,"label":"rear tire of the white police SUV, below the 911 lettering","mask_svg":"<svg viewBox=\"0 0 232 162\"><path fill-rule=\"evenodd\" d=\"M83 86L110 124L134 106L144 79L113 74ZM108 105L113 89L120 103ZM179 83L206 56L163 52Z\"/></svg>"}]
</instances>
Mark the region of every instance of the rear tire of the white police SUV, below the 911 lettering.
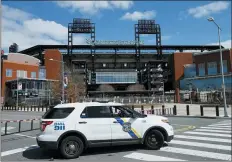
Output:
<instances>
[{"instance_id":1,"label":"rear tire of the white police SUV, below the 911 lettering","mask_svg":"<svg viewBox=\"0 0 232 162\"><path fill-rule=\"evenodd\" d=\"M73 145L73 146L70 146L70 145ZM83 144L83 141L79 137L68 136L61 141L59 149L60 149L61 155L64 158L75 159L75 158L78 158L82 154L84 150L84 144Z\"/></svg>"}]
</instances>

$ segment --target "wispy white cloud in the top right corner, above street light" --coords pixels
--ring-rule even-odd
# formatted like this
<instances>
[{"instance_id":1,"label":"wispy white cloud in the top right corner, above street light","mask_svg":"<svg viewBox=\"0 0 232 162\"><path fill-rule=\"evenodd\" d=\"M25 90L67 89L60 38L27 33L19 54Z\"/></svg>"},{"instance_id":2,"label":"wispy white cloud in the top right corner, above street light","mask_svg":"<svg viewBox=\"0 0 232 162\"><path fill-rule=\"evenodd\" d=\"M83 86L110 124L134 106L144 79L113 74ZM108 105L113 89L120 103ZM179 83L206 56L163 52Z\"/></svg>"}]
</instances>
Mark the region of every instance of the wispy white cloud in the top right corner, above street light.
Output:
<instances>
[{"instance_id":1,"label":"wispy white cloud in the top right corner, above street light","mask_svg":"<svg viewBox=\"0 0 232 162\"><path fill-rule=\"evenodd\" d=\"M226 1L212 2L207 5L198 6L188 9L188 13L195 18L209 16L214 13L219 13L229 7L230 3Z\"/></svg>"}]
</instances>

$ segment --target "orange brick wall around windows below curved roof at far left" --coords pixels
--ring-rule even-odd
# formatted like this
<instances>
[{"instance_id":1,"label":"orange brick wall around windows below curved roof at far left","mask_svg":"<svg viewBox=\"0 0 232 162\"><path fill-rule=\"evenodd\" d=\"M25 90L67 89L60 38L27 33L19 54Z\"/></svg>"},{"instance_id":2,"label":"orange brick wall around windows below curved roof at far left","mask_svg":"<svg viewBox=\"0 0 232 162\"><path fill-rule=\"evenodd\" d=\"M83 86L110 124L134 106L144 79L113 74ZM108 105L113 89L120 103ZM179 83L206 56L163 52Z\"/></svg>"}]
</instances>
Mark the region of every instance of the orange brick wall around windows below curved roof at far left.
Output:
<instances>
[{"instance_id":1,"label":"orange brick wall around windows below curved roof at far left","mask_svg":"<svg viewBox=\"0 0 232 162\"><path fill-rule=\"evenodd\" d=\"M9 62L7 60L3 60L2 62L2 91L1 95L5 96L5 83L8 80L17 79L17 70L27 71L27 77L31 78L31 72L36 72L36 77L39 77L39 66L38 65L27 65L27 64L18 64L15 62ZM6 69L12 70L12 77L6 77Z\"/></svg>"}]
</instances>

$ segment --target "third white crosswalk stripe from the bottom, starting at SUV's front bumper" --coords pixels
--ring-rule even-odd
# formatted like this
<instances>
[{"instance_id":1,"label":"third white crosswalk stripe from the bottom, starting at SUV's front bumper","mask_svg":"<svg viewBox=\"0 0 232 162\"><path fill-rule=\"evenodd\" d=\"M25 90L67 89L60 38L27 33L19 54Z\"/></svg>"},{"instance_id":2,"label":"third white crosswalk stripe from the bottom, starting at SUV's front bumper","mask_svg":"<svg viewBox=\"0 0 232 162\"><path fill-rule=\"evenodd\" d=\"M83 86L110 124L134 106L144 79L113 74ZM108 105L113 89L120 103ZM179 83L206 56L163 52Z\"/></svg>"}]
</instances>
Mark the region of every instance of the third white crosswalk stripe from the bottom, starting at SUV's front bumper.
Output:
<instances>
[{"instance_id":1,"label":"third white crosswalk stripe from the bottom, starting at SUV's front bumper","mask_svg":"<svg viewBox=\"0 0 232 162\"><path fill-rule=\"evenodd\" d=\"M170 143L171 144L186 145L186 146L196 146L196 147L220 149L220 150L229 150L229 151L231 150L231 146L209 144L209 143L188 142L188 141L179 141L179 140L173 140Z\"/></svg>"}]
</instances>

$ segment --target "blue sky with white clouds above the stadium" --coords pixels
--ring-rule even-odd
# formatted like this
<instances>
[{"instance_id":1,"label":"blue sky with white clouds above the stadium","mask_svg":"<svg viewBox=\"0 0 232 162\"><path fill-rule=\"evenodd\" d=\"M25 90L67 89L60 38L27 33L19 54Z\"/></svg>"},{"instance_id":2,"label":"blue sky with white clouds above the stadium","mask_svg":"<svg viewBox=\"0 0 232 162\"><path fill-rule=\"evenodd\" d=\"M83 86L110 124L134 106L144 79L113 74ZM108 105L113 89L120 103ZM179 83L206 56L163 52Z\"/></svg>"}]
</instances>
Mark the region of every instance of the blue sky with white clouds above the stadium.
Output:
<instances>
[{"instance_id":1,"label":"blue sky with white clouds above the stadium","mask_svg":"<svg viewBox=\"0 0 232 162\"><path fill-rule=\"evenodd\" d=\"M229 1L3 1L2 48L19 50L42 44L67 44L68 23L91 19L96 40L134 40L139 19L155 20L161 27L162 45L216 45L231 48ZM86 44L89 34L75 34L74 44ZM144 44L155 44L155 35L141 35Z\"/></svg>"}]
</instances>

